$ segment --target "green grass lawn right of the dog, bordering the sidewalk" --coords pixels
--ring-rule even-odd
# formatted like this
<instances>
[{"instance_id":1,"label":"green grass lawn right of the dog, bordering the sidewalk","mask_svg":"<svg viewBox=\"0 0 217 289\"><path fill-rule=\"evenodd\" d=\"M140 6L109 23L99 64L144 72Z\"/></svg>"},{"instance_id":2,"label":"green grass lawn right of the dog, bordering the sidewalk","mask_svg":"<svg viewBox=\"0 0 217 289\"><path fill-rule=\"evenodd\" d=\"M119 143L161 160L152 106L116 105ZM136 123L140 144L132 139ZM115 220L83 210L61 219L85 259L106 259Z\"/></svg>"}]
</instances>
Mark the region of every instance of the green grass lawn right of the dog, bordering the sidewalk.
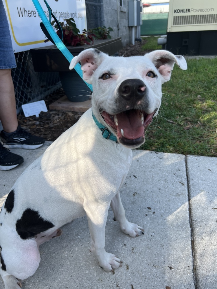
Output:
<instances>
[{"instance_id":1,"label":"green grass lawn right of the dog, bordering the sidewalk","mask_svg":"<svg viewBox=\"0 0 217 289\"><path fill-rule=\"evenodd\" d=\"M162 85L161 108L141 149L217 156L217 58L187 65L186 71L175 65Z\"/></svg>"}]
</instances>

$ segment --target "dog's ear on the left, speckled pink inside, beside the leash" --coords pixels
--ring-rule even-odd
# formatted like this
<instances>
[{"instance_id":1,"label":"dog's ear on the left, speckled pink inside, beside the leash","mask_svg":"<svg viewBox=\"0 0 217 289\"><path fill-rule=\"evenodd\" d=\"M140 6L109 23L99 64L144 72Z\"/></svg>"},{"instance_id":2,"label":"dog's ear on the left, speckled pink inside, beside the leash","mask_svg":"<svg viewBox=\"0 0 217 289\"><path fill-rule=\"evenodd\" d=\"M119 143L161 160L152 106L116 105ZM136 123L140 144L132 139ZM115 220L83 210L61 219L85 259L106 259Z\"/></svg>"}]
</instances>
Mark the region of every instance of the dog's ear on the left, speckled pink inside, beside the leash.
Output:
<instances>
[{"instance_id":1,"label":"dog's ear on the left, speckled pink inside, beside the leash","mask_svg":"<svg viewBox=\"0 0 217 289\"><path fill-rule=\"evenodd\" d=\"M73 69L78 62L81 62L81 69L83 71L83 79L92 84L92 76L94 71L102 63L104 58L109 57L107 54L99 51L98 49L85 49L78 56L75 56L70 65L69 69Z\"/></svg>"}]
</instances>

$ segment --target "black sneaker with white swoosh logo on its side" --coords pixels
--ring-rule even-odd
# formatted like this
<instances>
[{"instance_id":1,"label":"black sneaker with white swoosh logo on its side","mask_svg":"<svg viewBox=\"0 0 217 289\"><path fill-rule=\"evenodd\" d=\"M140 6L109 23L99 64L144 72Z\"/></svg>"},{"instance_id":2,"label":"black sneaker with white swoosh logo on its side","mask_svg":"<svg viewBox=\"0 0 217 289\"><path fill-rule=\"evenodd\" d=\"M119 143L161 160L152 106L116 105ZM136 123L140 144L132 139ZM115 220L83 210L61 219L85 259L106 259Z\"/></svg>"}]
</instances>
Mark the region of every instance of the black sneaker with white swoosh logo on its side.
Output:
<instances>
[{"instance_id":1,"label":"black sneaker with white swoosh logo on its side","mask_svg":"<svg viewBox=\"0 0 217 289\"><path fill-rule=\"evenodd\" d=\"M0 133L3 146L7 149L37 149L41 147L45 140L39 136L32 136L19 125L16 132L6 137L3 130Z\"/></svg>"}]
</instances>

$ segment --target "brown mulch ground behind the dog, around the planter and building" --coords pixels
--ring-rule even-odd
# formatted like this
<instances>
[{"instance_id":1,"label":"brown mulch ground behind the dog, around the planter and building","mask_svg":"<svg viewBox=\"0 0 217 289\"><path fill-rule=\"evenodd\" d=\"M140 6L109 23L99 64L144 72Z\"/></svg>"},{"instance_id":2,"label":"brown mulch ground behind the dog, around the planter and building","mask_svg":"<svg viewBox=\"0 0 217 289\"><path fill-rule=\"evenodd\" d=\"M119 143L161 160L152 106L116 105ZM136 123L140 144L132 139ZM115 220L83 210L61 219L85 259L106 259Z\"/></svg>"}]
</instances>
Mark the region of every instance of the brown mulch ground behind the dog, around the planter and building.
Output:
<instances>
[{"instance_id":1,"label":"brown mulch ground behind the dog, around the planter and building","mask_svg":"<svg viewBox=\"0 0 217 289\"><path fill-rule=\"evenodd\" d=\"M144 55L145 52L148 52L141 51L141 47L145 43L146 40L142 40L141 42L136 41L135 45L126 45L118 52L118 55L124 57ZM83 114L82 112L49 110L49 105L64 95L65 92L62 88L52 95L49 95L49 97L45 99L48 111L41 112L39 117L25 117L23 113L21 113L18 116L19 124L33 135L41 136L49 141L56 140L64 131L75 124Z\"/></svg>"}]
</instances>

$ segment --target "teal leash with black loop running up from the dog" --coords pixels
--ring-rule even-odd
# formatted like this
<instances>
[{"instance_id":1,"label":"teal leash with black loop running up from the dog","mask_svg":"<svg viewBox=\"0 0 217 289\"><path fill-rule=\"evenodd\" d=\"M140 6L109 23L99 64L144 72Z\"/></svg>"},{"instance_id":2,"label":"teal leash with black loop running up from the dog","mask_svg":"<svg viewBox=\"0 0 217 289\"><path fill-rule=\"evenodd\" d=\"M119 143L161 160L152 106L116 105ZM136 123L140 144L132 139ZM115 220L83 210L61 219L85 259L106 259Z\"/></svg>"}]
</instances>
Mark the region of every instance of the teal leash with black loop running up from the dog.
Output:
<instances>
[{"instance_id":1,"label":"teal leash with black loop running up from the dog","mask_svg":"<svg viewBox=\"0 0 217 289\"><path fill-rule=\"evenodd\" d=\"M73 55L71 54L71 52L67 49L67 47L63 44L62 40L59 38L59 36L56 34L55 30L53 29L53 26L51 25L50 21L51 21L51 16L54 18L54 20L58 23L58 20L56 19L56 17L53 15L52 10L50 8L50 6L48 5L48 3L44 0L48 11L49 11L49 20L47 19L47 16L45 15L44 10L41 7L41 4L39 3L38 0L32 0L33 4L35 5L35 8L41 18L42 24L40 24L43 32L45 33L46 36L48 36L48 39L52 39L53 43L56 45L56 47L62 52L62 54L65 56L65 58L69 61L69 63L71 62ZM58 25L58 27L61 28L60 25ZM59 28L59 30L60 30ZM62 28L60 30L60 34L61 34ZM47 33L46 33L47 32ZM50 36L50 37L49 37ZM83 73L81 70L81 65L79 63L76 64L76 66L74 67L75 71L80 75L80 77L82 78ZM87 86L90 88L91 91L93 91L93 87L91 84L87 83L86 81L84 81Z\"/></svg>"}]
</instances>

